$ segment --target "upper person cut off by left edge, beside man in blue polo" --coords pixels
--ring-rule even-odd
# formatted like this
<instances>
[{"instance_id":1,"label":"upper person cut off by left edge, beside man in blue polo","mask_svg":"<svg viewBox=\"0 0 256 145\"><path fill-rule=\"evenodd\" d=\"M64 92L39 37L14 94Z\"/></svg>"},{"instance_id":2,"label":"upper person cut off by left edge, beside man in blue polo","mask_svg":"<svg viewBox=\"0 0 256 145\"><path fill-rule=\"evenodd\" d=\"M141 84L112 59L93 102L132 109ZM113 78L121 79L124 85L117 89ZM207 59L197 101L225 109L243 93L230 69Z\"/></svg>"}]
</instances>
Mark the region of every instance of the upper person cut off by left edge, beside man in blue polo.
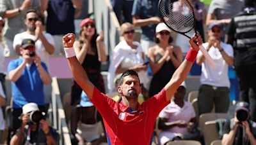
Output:
<instances>
[{"instance_id":1,"label":"upper person cut off by left edge, beside man in blue polo","mask_svg":"<svg viewBox=\"0 0 256 145\"><path fill-rule=\"evenodd\" d=\"M5 74L4 74L4 42L3 42L3 27L4 27L4 19L0 17L0 81L3 86L4 94L6 94L5 87Z\"/></svg>"}]
</instances>

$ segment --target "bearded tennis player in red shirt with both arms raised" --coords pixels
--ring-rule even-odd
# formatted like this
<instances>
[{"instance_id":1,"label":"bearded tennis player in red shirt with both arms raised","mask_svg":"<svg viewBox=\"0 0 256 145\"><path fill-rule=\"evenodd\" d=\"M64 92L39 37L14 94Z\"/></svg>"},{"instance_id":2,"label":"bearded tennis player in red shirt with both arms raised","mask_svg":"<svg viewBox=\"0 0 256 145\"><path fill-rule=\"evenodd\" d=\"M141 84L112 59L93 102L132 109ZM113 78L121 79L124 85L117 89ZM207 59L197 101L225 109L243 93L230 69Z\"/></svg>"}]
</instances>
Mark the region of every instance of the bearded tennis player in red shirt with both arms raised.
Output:
<instances>
[{"instance_id":1,"label":"bearded tennis player in red shirt with both arms raised","mask_svg":"<svg viewBox=\"0 0 256 145\"><path fill-rule=\"evenodd\" d=\"M197 36L194 35L189 40L192 48L184 62L174 72L169 83L164 86L161 92L142 104L138 103L141 87L140 79L135 71L125 71L120 77L117 90L122 101L118 104L104 93L100 93L89 81L86 72L76 59L73 48L75 35L66 34L63 36L64 51L72 75L102 115L109 144L150 144L158 114L166 105L170 104L170 99L182 81L186 79L196 59L199 50L198 45L202 45L200 34Z\"/></svg>"}]
</instances>

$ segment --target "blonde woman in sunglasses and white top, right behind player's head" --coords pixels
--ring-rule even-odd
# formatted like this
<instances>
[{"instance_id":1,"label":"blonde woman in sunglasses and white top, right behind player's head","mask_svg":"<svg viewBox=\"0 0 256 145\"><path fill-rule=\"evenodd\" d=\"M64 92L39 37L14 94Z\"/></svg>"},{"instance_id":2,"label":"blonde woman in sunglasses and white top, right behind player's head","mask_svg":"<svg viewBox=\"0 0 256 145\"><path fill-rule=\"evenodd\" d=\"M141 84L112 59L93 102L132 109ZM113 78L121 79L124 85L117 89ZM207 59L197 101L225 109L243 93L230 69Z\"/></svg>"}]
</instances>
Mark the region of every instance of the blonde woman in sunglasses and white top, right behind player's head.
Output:
<instances>
[{"instance_id":1,"label":"blonde woman in sunglasses and white top, right behind player's head","mask_svg":"<svg viewBox=\"0 0 256 145\"><path fill-rule=\"evenodd\" d=\"M113 79L116 74L121 74L129 69L136 71L141 78L141 84L148 83L147 64L145 64L145 53L140 43L134 41L134 26L130 23L121 25L121 34L124 37L113 50L108 73L109 92L115 90Z\"/></svg>"}]
</instances>

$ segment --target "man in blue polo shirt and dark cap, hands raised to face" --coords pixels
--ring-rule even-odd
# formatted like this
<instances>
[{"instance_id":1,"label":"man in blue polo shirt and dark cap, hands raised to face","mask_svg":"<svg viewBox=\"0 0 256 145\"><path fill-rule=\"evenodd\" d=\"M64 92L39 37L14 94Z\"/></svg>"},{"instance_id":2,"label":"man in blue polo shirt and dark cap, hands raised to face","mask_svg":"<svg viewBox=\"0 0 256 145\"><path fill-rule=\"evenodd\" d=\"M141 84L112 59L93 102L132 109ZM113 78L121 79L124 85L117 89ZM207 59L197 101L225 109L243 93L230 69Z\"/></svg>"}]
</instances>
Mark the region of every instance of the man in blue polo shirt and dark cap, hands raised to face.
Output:
<instances>
[{"instance_id":1,"label":"man in blue polo shirt and dark cap, hands raised to face","mask_svg":"<svg viewBox=\"0 0 256 145\"><path fill-rule=\"evenodd\" d=\"M51 83L47 67L35 53L35 42L32 39L22 40L20 54L21 58L8 64L8 77L12 81L13 133L20 127L19 116L25 104L35 102L45 112L43 85Z\"/></svg>"}]
</instances>

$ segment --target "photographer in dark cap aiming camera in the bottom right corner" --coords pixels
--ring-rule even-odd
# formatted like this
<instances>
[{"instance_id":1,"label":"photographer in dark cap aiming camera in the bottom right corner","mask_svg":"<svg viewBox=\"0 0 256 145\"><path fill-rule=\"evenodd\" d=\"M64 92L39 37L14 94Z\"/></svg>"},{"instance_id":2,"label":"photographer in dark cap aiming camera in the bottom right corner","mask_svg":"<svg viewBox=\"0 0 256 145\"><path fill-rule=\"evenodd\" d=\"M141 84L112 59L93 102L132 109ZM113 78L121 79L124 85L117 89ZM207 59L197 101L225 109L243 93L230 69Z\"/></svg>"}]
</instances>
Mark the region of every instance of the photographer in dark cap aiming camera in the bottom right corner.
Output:
<instances>
[{"instance_id":1,"label":"photographer in dark cap aiming camera in the bottom right corner","mask_svg":"<svg viewBox=\"0 0 256 145\"><path fill-rule=\"evenodd\" d=\"M256 144L256 123L250 120L249 104L236 104L235 117L228 120L223 128L222 144Z\"/></svg>"}]
</instances>

